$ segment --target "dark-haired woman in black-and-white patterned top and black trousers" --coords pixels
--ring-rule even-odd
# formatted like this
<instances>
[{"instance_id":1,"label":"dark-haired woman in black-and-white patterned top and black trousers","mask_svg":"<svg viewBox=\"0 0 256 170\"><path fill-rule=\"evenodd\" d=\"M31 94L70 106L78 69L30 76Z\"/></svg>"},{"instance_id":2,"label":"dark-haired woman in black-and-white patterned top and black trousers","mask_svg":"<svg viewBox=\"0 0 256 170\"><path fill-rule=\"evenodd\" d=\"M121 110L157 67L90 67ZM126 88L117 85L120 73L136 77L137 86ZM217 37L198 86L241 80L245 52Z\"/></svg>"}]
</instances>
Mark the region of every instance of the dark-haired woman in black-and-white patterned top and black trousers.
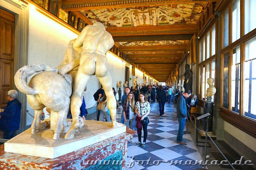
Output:
<instances>
[{"instance_id":1,"label":"dark-haired woman in black-and-white patterned top and black trousers","mask_svg":"<svg viewBox=\"0 0 256 170\"><path fill-rule=\"evenodd\" d=\"M147 128L149 123L148 114L150 112L150 104L148 103L148 101L145 101L145 94L143 92L140 92L139 99L140 101L138 101L135 105L135 113L137 114L136 127L137 127L139 142L137 142L135 145L137 146L140 145L144 147L146 145L146 140L148 136ZM143 142L141 142L142 128L144 132Z\"/></svg>"}]
</instances>

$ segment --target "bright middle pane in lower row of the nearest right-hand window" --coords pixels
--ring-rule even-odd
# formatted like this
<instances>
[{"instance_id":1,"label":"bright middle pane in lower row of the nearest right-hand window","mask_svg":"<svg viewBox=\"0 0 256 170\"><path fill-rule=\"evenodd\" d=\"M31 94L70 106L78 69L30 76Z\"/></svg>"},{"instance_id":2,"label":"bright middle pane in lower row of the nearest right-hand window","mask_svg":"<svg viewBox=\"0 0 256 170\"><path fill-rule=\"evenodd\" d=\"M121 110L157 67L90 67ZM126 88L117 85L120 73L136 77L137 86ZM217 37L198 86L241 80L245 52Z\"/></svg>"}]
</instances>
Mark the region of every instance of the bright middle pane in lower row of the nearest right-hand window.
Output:
<instances>
[{"instance_id":1,"label":"bright middle pane in lower row of the nearest right-hand window","mask_svg":"<svg viewBox=\"0 0 256 170\"><path fill-rule=\"evenodd\" d=\"M240 103L240 46L233 49L231 66L231 106L239 113Z\"/></svg>"}]
</instances>

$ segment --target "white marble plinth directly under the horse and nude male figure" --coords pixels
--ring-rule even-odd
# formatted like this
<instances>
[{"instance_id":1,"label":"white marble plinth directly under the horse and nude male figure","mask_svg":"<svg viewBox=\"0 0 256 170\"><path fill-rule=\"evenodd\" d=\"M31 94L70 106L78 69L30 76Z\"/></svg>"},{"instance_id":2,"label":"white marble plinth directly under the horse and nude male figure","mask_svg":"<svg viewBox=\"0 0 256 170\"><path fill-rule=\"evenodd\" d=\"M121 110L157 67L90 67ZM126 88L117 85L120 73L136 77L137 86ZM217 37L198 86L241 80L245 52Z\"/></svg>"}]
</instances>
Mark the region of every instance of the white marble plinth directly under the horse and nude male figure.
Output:
<instances>
[{"instance_id":1,"label":"white marble plinth directly under the horse and nude male figure","mask_svg":"<svg viewBox=\"0 0 256 170\"><path fill-rule=\"evenodd\" d=\"M57 140L52 139L54 132L48 128L33 135L28 129L5 142L5 152L53 159L125 132L126 126L121 125L112 128L110 122L85 120L73 139L64 139L63 133Z\"/></svg>"}]
</instances>

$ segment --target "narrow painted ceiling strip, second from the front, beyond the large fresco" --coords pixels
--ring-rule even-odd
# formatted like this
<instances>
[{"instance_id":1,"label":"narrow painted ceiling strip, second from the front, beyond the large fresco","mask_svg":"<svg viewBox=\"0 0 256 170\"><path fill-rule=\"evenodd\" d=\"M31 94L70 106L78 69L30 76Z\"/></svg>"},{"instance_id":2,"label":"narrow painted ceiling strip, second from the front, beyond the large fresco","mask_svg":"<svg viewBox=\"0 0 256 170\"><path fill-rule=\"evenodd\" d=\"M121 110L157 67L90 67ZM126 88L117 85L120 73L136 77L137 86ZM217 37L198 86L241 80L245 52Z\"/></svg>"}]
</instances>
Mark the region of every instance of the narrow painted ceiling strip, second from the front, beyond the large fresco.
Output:
<instances>
[{"instance_id":1,"label":"narrow painted ceiling strip, second from the front, beyond the large fresco","mask_svg":"<svg viewBox=\"0 0 256 170\"><path fill-rule=\"evenodd\" d=\"M119 42L121 46L157 46L157 45L182 45L187 44L189 40L176 41L135 41L135 42Z\"/></svg>"}]
</instances>

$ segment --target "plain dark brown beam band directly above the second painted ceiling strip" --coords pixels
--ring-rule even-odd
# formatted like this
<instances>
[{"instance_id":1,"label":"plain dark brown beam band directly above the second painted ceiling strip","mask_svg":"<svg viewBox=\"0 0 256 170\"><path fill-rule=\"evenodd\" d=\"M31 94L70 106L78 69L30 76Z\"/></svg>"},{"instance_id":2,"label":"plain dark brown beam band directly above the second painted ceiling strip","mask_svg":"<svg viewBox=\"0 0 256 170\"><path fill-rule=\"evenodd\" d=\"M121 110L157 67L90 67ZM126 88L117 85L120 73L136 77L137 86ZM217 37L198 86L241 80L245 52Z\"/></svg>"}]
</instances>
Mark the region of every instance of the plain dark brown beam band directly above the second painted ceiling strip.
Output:
<instances>
[{"instance_id":1,"label":"plain dark brown beam band directly above the second painted ceiling strip","mask_svg":"<svg viewBox=\"0 0 256 170\"><path fill-rule=\"evenodd\" d=\"M134 28L136 29L136 28ZM126 41L164 41L164 40L191 40L193 34L178 34L178 35L140 35L140 36L122 36L115 37L112 35L115 42L126 42Z\"/></svg>"}]
</instances>

